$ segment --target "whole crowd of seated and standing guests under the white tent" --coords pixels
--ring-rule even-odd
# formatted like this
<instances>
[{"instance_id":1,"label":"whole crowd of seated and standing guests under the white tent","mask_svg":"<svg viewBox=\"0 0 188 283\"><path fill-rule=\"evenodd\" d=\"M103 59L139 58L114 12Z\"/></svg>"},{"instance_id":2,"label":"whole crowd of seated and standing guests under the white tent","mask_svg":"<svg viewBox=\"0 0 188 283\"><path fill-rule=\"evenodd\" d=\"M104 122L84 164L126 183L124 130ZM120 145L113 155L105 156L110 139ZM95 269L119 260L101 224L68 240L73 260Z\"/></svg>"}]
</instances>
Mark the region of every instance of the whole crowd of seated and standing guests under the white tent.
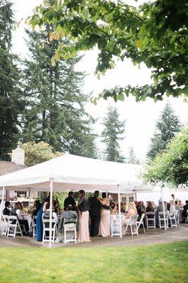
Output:
<instances>
[{"instance_id":1,"label":"whole crowd of seated and standing guests under the white tent","mask_svg":"<svg viewBox=\"0 0 188 283\"><path fill-rule=\"evenodd\" d=\"M110 217L119 213L119 204L112 200L112 196L107 197L106 192L102 192L102 197L96 190L92 197L86 197L86 192L78 192L78 202L74 199L74 192L69 192L69 196L64 200L64 210L61 212L59 204L52 201L52 218L58 227L59 238L64 233L64 219L77 219L76 230L78 231L78 242L88 242L90 237L110 236ZM182 204L172 195L170 202L165 202L165 211L174 212L182 210L182 217L187 217L188 201ZM29 235L28 221L21 218L22 204L17 202L11 207L10 202L5 203L3 214L17 215L20 224L24 224L26 236ZM146 212L155 212L156 225L158 226L158 212L163 212L163 202L159 200L158 206L151 201L143 204L142 201L120 202L120 211L122 213L122 232L124 234L125 226L131 215L141 215ZM36 200L34 203L32 216L36 216L36 239L42 241L43 224L42 218L49 219L49 196L42 204ZM148 215L149 217L149 215ZM145 219L143 219L145 222ZM31 235L30 235L31 236Z\"/></svg>"}]
</instances>

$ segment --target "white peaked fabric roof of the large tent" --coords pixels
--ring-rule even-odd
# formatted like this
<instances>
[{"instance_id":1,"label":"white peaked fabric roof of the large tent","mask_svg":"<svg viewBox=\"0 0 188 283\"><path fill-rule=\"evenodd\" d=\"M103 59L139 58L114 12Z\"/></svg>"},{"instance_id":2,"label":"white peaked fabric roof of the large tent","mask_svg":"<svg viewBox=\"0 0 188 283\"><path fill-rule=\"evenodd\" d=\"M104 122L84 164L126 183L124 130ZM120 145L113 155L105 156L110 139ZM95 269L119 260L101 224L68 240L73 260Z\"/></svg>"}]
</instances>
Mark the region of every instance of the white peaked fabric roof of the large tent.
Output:
<instances>
[{"instance_id":1,"label":"white peaked fabric roof of the large tent","mask_svg":"<svg viewBox=\"0 0 188 283\"><path fill-rule=\"evenodd\" d=\"M101 161L64 154L20 171L2 175L0 187L6 190L49 191L49 180L54 180L54 191L93 190L117 192L151 191L139 179L141 166Z\"/></svg>"}]
</instances>

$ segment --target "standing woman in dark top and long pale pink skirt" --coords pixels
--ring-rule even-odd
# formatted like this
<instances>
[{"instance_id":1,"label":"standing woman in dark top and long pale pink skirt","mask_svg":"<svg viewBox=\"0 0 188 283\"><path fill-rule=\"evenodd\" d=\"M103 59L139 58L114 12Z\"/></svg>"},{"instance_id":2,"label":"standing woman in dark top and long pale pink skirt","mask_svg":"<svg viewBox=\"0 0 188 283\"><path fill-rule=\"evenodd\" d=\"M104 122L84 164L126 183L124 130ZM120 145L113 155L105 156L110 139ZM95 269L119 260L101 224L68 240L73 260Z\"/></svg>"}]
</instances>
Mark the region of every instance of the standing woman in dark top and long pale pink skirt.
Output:
<instances>
[{"instance_id":1,"label":"standing woman in dark top and long pale pink skirt","mask_svg":"<svg viewBox=\"0 0 188 283\"><path fill-rule=\"evenodd\" d=\"M78 195L80 197L78 201L78 209L80 211L79 215L79 230L78 230L78 242L89 242L89 202L86 197L86 192L84 190L79 190Z\"/></svg>"}]
</instances>

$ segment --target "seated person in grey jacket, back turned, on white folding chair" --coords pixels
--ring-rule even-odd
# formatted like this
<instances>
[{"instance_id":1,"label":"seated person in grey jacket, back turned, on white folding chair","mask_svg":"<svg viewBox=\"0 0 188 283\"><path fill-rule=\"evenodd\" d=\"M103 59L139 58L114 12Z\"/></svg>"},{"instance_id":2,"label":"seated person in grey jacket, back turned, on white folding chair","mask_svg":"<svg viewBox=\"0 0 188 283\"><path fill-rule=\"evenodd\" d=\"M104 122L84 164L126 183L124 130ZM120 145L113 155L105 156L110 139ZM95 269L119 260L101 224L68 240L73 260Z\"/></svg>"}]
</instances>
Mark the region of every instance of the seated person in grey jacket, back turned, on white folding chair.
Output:
<instances>
[{"instance_id":1,"label":"seated person in grey jacket, back turned, on white folding chair","mask_svg":"<svg viewBox=\"0 0 188 283\"><path fill-rule=\"evenodd\" d=\"M59 221L59 232L64 232L64 219L68 219L69 224L74 223L74 220L77 219L76 230L78 231L78 215L73 210L73 206L71 204L66 204L66 210L61 213L61 219Z\"/></svg>"}]
</instances>

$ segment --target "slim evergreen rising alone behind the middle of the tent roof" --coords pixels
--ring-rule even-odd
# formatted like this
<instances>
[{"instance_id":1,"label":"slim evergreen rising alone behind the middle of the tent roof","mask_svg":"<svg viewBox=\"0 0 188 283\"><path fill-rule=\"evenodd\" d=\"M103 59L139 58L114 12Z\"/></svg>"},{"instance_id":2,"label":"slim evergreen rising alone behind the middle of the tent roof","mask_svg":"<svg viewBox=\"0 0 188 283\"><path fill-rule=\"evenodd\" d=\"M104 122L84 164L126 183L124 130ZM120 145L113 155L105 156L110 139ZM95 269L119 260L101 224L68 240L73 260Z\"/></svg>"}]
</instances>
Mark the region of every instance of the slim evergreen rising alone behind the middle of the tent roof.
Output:
<instances>
[{"instance_id":1,"label":"slim evergreen rising alone behind the middle of the tent roof","mask_svg":"<svg viewBox=\"0 0 188 283\"><path fill-rule=\"evenodd\" d=\"M117 108L111 105L107 108L107 115L102 123L105 129L102 131L102 142L106 145L105 160L124 162L119 146L119 141L124 139L124 123L119 121Z\"/></svg>"}]
</instances>

